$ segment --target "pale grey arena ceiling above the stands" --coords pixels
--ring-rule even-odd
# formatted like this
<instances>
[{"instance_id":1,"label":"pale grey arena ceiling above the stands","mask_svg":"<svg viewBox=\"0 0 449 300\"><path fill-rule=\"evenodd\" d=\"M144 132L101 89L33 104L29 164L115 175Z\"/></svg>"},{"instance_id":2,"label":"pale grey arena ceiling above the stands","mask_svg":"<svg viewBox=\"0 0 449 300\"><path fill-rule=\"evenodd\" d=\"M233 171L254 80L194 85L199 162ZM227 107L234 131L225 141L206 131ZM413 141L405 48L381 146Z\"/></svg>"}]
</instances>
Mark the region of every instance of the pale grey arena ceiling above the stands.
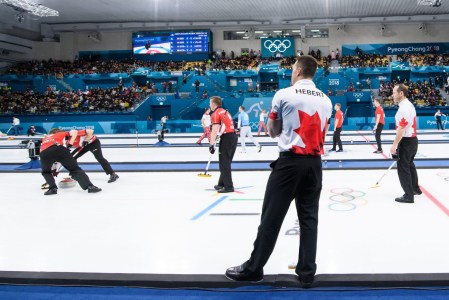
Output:
<instances>
[{"instance_id":1,"label":"pale grey arena ceiling above the stands","mask_svg":"<svg viewBox=\"0 0 449 300\"><path fill-rule=\"evenodd\" d=\"M36 0L59 12L36 17L0 4L0 31L40 33L164 27L314 26L449 22L449 0ZM440 1L439 7L418 2ZM0 0L0 3L2 1ZM44 27L47 25L44 25ZM45 28L49 28L48 26Z\"/></svg>"}]
</instances>

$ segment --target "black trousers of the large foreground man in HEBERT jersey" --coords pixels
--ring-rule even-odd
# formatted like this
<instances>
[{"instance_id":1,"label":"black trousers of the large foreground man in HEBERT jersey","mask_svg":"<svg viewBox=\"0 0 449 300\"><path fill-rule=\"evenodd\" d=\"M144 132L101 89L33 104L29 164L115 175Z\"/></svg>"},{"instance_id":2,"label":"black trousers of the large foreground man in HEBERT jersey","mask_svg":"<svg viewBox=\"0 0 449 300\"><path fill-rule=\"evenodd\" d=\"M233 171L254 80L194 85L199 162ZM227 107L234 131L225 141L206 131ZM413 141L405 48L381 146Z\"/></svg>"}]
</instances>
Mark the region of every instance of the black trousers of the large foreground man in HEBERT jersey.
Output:
<instances>
[{"instance_id":1,"label":"black trousers of the large foreground man in HEBERT jersey","mask_svg":"<svg viewBox=\"0 0 449 300\"><path fill-rule=\"evenodd\" d=\"M251 258L250 273L261 272L273 252L290 203L295 199L300 227L296 273L309 281L316 272L318 204L322 188L321 157L281 157L271 165L262 206L262 217Z\"/></svg>"}]
</instances>

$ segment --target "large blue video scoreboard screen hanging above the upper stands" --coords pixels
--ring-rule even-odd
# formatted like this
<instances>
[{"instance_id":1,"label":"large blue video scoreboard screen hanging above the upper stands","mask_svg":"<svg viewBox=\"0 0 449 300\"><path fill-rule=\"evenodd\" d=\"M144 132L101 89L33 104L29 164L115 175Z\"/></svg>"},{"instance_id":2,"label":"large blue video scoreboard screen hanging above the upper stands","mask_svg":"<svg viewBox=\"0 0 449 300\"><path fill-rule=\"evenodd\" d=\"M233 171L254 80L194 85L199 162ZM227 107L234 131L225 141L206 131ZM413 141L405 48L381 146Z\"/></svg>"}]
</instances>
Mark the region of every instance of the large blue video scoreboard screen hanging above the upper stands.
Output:
<instances>
[{"instance_id":1,"label":"large blue video scoreboard screen hanging above the upper stands","mask_svg":"<svg viewBox=\"0 0 449 300\"><path fill-rule=\"evenodd\" d=\"M189 54L209 52L210 32L171 31L133 33L134 54Z\"/></svg>"}]
</instances>

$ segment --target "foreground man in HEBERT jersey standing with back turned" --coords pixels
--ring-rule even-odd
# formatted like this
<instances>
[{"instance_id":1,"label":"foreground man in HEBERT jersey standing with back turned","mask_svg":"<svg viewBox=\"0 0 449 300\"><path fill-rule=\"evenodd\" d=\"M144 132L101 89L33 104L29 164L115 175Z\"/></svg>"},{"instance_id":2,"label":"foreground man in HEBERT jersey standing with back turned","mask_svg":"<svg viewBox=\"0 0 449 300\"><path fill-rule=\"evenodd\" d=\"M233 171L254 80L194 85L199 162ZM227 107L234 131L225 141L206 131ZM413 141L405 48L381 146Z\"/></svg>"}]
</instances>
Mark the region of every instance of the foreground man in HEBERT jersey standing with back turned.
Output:
<instances>
[{"instance_id":1,"label":"foreground man in HEBERT jersey standing with back turned","mask_svg":"<svg viewBox=\"0 0 449 300\"><path fill-rule=\"evenodd\" d=\"M226 270L230 280L263 280L263 267L295 199L301 229L296 274L302 287L313 283L322 188L321 155L332 113L330 99L312 81L317 67L312 56L299 56L292 66L292 86L274 95L268 133L272 138L279 136L279 158L270 165L273 170L265 190L254 250L245 263Z\"/></svg>"}]
</instances>

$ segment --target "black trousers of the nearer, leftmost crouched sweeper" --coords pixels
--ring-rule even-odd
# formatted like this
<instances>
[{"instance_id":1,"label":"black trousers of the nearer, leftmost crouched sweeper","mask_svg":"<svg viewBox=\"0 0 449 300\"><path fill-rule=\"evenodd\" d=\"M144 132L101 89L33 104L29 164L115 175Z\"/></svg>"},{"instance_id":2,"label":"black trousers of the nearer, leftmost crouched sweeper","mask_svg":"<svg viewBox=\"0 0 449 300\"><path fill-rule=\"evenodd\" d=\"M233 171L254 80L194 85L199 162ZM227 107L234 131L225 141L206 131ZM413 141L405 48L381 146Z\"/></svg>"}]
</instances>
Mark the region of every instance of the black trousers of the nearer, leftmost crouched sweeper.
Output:
<instances>
[{"instance_id":1,"label":"black trousers of the nearer, leftmost crouched sweeper","mask_svg":"<svg viewBox=\"0 0 449 300\"><path fill-rule=\"evenodd\" d=\"M54 162L60 162L61 165L70 172L70 176L78 181L83 190L92 185L89 177L78 166L78 163L73 158L70 150L63 146L52 146L41 152L41 168L42 176L45 178L45 182L48 183L50 188L56 187L55 178L52 175L51 167Z\"/></svg>"}]
</instances>

